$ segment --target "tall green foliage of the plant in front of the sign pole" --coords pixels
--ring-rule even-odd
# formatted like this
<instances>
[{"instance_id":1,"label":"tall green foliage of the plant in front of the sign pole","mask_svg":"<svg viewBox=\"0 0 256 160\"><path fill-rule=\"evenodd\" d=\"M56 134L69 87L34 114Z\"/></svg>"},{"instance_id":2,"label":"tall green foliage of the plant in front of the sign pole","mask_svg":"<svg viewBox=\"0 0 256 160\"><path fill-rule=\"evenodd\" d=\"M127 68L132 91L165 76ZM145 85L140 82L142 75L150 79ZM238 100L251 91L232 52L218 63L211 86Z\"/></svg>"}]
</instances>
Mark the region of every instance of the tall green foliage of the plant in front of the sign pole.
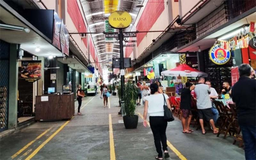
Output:
<instances>
[{"instance_id":1,"label":"tall green foliage of the plant in front of the sign pole","mask_svg":"<svg viewBox=\"0 0 256 160\"><path fill-rule=\"evenodd\" d=\"M125 85L124 92L124 104L122 105L122 113L124 116L134 116L137 106L136 100L138 97L138 89L132 84L132 82L127 82Z\"/></svg>"}]
</instances>

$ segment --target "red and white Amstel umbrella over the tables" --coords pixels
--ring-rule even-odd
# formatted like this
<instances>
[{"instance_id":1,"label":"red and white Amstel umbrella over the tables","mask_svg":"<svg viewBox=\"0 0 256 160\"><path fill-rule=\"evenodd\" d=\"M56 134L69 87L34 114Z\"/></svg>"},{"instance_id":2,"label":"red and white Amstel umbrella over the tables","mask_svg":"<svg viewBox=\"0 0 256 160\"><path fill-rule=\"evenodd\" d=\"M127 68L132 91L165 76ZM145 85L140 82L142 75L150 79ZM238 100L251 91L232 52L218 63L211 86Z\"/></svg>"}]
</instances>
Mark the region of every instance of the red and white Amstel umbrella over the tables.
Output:
<instances>
[{"instance_id":1,"label":"red and white Amstel umbrella over the tables","mask_svg":"<svg viewBox=\"0 0 256 160\"><path fill-rule=\"evenodd\" d=\"M197 69L191 68L186 64L181 64L176 68L166 70L161 72L162 76L182 76L182 77L197 77L204 76L207 77L207 74L204 72L200 72Z\"/></svg>"}]
</instances>

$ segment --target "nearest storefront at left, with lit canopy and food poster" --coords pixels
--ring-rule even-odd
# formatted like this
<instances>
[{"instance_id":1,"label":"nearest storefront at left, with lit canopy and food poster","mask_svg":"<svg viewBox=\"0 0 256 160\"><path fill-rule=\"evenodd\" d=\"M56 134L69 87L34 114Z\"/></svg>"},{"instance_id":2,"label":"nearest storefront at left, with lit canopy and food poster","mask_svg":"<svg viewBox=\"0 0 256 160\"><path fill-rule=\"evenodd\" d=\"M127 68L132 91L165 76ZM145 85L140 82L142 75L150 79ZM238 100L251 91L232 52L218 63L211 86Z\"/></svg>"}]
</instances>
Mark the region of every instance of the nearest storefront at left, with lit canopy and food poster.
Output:
<instances>
[{"instance_id":1,"label":"nearest storefront at left, with lit canopy and food poster","mask_svg":"<svg viewBox=\"0 0 256 160\"><path fill-rule=\"evenodd\" d=\"M65 67L57 57L68 56L69 49L67 29L54 10L16 12L5 2L0 9L2 132L33 120L38 113L36 96L43 95L49 86L62 92L64 71L58 71L58 66ZM45 81L48 78L50 83Z\"/></svg>"}]
</instances>

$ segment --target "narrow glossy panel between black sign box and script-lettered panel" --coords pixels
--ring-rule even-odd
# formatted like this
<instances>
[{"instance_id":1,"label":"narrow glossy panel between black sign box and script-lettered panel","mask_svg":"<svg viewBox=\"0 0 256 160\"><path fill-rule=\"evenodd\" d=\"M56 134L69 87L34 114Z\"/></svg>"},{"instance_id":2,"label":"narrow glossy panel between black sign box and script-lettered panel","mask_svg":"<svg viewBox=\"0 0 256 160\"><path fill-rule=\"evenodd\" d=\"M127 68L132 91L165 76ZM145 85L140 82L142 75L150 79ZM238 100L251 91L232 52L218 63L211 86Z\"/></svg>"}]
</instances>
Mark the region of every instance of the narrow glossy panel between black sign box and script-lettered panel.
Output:
<instances>
[{"instance_id":1,"label":"narrow glossy panel between black sign box and script-lettered panel","mask_svg":"<svg viewBox=\"0 0 256 160\"><path fill-rule=\"evenodd\" d=\"M54 23L53 23L53 38L52 38L52 44L60 48L60 24L61 20L56 12L54 12Z\"/></svg>"}]
</instances>

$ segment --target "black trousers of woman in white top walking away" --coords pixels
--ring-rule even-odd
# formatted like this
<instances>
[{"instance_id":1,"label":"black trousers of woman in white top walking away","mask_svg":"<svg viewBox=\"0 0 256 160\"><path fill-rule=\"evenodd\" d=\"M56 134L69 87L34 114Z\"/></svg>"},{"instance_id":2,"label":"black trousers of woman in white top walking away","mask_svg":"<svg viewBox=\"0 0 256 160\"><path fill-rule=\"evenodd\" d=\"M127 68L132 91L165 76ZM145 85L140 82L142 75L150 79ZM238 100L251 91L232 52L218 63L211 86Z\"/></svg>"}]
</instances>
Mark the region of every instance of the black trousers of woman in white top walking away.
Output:
<instances>
[{"instance_id":1,"label":"black trousers of woman in white top walking away","mask_svg":"<svg viewBox=\"0 0 256 160\"><path fill-rule=\"evenodd\" d=\"M167 150L167 138L165 133L167 121L164 120L164 116L149 116L149 124L154 135L156 152L158 153L159 157L163 157L161 142L163 145L163 150Z\"/></svg>"}]
</instances>

